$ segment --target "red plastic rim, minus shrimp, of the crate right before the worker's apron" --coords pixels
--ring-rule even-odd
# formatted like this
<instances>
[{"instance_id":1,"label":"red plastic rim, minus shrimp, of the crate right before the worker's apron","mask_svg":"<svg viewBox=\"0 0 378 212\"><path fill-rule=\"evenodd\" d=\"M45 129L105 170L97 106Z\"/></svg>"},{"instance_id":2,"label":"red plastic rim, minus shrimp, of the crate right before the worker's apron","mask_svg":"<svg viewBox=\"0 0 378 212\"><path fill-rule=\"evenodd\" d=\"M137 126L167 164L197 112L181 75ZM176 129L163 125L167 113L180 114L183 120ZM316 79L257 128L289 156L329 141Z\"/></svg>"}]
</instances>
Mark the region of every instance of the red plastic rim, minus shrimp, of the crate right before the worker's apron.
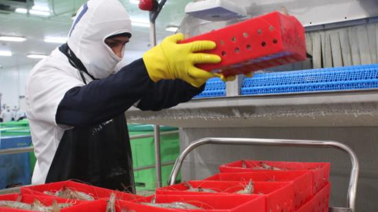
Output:
<instances>
[{"instance_id":1,"label":"red plastic rim, minus shrimp, of the crate right before the worker's apron","mask_svg":"<svg viewBox=\"0 0 378 212\"><path fill-rule=\"evenodd\" d=\"M47 184L32 185L29 187L21 187L21 192L30 193L34 195L47 195L43 193L43 191L56 192L62 189L63 187L73 189L74 191L80 191L80 192L90 194L95 199L109 198L111 193L115 193L115 195L117 196L119 200L135 200L138 198L142 198L142 196L134 195L132 193L113 191L111 189L94 187L89 184L83 184L80 182L74 182L70 180L61 181L61 182L52 182L52 183L47 183ZM47 195L47 196L52 196L52 195Z\"/></svg>"}]
</instances>

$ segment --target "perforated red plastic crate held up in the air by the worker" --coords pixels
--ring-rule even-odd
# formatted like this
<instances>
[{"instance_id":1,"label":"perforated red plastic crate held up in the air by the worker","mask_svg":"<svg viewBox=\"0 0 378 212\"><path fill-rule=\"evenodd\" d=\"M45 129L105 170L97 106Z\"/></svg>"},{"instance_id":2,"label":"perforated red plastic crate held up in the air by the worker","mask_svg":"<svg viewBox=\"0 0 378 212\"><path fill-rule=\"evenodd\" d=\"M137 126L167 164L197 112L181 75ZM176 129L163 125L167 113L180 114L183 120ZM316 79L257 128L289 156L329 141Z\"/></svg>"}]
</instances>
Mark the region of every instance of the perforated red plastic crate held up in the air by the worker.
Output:
<instances>
[{"instance_id":1,"label":"perforated red plastic crate held up in the air by the worker","mask_svg":"<svg viewBox=\"0 0 378 212\"><path fill-rule=\"evenodd\" d=\"M284 65L306 59L304 28L295 17L271 12L260 17L229 25L182 41L210 40L221 56L218 64L198 67L222 72L225 76L245 74L266 67Z\"/></svg>"}]
</instances>

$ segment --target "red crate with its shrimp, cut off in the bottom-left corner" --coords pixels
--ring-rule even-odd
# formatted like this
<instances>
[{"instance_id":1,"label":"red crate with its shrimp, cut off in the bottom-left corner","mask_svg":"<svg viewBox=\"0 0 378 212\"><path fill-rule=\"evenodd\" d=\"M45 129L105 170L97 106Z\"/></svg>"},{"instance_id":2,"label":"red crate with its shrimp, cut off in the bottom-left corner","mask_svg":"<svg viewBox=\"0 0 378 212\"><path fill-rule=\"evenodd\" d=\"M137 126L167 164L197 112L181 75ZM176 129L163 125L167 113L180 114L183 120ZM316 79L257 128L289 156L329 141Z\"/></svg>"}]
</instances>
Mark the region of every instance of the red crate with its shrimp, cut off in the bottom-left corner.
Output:
<instances>
[{"instance_id":1,"label":"red crate with its shrimp, cut off in the bottom-left corner","mask_svg":"<svg viewBox=\"0 0 378 212\"><path fill-rule=\"evenodd\" d=\"M79 211L79 204L86 201L11 193L0 195L0 211Z\"/></svg>"}]
</instances>

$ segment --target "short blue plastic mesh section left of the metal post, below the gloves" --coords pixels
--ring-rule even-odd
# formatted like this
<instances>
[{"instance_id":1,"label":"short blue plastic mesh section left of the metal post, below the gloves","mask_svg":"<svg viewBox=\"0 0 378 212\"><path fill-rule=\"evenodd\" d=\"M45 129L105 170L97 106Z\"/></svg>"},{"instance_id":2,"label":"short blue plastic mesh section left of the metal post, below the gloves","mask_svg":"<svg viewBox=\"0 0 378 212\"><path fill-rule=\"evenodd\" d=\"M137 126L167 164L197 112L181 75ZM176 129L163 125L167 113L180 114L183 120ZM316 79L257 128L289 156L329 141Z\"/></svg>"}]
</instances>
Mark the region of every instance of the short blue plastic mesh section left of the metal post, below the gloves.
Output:
<instances>
[{"instance_id":1,"label":"short blue plastic mesh section left of the metal post, below the gloves","mask_svg":"<svg viewBox=\"0 0 378 212\"><path fill-rule=\"evenodd\" d=\"M193 98L212 98L225 96L225 83L220 78L210 78L201 94Z\"/></svg>"}]
</instances>

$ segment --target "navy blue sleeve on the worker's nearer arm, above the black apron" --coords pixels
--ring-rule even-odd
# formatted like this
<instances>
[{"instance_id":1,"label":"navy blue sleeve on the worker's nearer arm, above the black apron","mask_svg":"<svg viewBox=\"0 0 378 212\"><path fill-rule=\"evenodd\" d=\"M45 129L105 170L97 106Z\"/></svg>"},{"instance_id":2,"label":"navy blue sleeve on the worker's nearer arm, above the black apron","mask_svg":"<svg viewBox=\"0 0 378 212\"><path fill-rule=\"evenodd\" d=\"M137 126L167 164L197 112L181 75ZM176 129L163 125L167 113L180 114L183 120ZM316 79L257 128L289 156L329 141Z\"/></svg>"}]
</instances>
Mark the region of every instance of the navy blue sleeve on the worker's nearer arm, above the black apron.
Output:
<instances>
[{"instance_id":1,"label":"navy blue sleeve on the worker's nearer arm, above the black apron","mask_svg":"<svg viewBox=\"0 0 378 212\"><path fill-rule=\"evenodd\" d=\"M143 60L134 61L107 78L69 89L58 105L56 123L76 127L110 120L140 100L153 84Z\"/></svg>"}]
</instances>

